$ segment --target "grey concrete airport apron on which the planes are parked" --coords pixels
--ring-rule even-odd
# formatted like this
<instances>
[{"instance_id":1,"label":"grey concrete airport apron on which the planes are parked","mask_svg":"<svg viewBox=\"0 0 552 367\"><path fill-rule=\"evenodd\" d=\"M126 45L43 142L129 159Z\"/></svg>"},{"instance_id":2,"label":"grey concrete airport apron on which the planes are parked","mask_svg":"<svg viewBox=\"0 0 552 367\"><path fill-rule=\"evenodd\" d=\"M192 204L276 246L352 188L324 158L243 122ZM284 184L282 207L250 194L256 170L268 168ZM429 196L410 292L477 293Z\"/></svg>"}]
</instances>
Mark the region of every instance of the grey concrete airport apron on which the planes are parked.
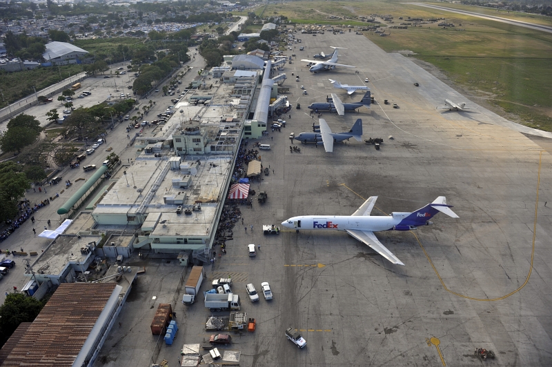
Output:
<instances>
[{"instance_id":1,"label":"grey concrete airport apron on which the planes are parked","mask_svg":"<svg viewBox=\"0 0 552 367\"><path fill-rule=\"evenodd\" d=\"M231 347L242 350L244 366L476 366L477 347L495 351L495 366L552 364L546 280L552 209L544 207L551 195L544 184L552 179L549 153L481 107L435 110L445 97L466 99L365 37L297 37L307 46L293 51L297 60L347 45L337 62L357 66L360 74L337 68L312 75L300 61L284 70L290 103L302 108L290 112L282 132L261 140L272 145L261 153L270 175L252 188L266 190L268 201L242 207L244 226L253 224L253 233L237 226L228 253L210 273L239 276L234 288L248 316L257 319L255 334L236 335ZM291 72L299 73L299 83ZM377 101L371 110L323 117L335 132L362 118L365 139L384 138L381 150L351 139L336 143L333 154L313 145L290 152L290 132L310 131L315 121L308 103L331 92L343 101L360 99L332 88L328 78L359 85L366 77ZM300 95L300 85L308 95ZM295 215L351 215L372 195L379 196L373 215L410 212L445 195L460 219L440 214L433 226L416 232L379 232L405 266L344 232L286 230L278 237L260 230ZM261 244L256 257L248 257L247 244ZM275 297L251 304L245 284L258 290L262 281ZM203 308L186 309L184 342L208 335L201 332ZM304 350L284 337L289 326L303 330Z\"/></svg>"}]
</instances>

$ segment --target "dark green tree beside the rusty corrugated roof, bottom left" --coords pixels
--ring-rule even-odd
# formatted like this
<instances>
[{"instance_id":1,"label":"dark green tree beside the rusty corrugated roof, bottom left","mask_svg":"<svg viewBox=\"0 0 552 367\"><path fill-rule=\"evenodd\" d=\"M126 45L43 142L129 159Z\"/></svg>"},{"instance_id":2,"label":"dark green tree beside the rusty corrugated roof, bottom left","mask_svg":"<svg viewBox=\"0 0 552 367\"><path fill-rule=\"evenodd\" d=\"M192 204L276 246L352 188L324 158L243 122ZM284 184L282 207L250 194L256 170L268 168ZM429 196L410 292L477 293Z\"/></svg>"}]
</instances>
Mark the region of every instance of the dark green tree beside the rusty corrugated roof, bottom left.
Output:
<instances>
[{"instance_id":1,"label":"dark green tree beside the rusty corrugated roof, bottom left","mask_svg":"<svg viewBox=\"0 0 552 367\"><path fill-rule=\"evenodd\" d=\"M34 297L26 297L23 293L10 293L0 306L0 340L6 343L22 322L32 322L39 315L44 304Z\"/></svg>"}]
</instances>

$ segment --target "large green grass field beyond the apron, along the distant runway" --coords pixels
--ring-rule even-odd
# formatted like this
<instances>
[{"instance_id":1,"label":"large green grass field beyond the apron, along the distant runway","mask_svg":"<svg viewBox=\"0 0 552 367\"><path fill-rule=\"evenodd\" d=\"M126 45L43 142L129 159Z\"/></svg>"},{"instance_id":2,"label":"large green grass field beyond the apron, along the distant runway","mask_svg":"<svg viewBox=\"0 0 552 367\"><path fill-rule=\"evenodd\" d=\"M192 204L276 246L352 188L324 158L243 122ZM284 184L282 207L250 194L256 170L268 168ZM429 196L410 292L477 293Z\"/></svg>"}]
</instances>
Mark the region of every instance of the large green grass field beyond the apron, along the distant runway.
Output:
<instances>
[{"instance_id":1,"label":"large green grass field beyond the apron, along the distant runway","mask_svg":"<svg viewBox=\"0 0 552 367\"><path fill-rule=\"evenodd\" d=\"M552 25L552 20L533 14L497 13L492 9L450 3L437 5ZM526 126L552 131L552 34L384 0L270 4L264 10L266 14L282 14L303 24L335 25L359 23L357 17L370 14L391 14L395 24L400 22L398 17L445 18L456 27L443 30L433 24L392 29L388 37L377 34L366 34L366 37L387 52L412 51L414 57L440 68L462 89L502 109L501 115ZM331 20L330 14L351 19Z\"/></svg>"}]
</instances>

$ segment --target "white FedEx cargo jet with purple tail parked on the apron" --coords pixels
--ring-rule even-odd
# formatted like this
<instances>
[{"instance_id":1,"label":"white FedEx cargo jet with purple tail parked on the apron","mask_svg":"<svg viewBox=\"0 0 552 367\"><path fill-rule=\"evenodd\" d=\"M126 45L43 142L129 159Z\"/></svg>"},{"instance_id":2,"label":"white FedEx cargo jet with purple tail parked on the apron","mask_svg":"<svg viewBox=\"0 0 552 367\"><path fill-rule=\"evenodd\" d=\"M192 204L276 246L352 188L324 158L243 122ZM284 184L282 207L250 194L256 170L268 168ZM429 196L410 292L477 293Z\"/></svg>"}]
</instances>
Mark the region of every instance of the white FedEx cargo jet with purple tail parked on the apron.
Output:
<instances>
[{"instance_id":1,"label":"white FedEx cargo jet with purple tail parked on the apron","mask_svg":"<svg viewBox=\"0 0 552 367\"><path fill-rule=\"evenodd\" d=\"M343 230L355 239L373 248L393 264L404 265L375 237L374 232L382 230L415 230L418 226L429 226L431 217L443 212L449 217L458 216L446 205L444 196L437 197L431 204L413 212L392 212L388 216L371 217L377 196L369 197L353 215L304 215L282 222L282 226L299 230Z\"/></svg>"}]
</instances>

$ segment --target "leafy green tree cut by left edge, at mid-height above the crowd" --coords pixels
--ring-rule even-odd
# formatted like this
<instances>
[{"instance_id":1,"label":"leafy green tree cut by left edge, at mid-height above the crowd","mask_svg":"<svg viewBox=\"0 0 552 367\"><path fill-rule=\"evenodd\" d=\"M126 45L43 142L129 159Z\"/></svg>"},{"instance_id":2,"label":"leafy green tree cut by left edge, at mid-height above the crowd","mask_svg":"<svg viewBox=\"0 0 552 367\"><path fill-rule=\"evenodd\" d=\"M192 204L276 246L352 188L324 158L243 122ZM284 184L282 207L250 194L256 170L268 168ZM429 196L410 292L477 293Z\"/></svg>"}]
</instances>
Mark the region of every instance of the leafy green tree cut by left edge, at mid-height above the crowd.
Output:
<instances>
[{"instance_id":1,"label":"leafy green tree cut by left edge, at mid-height above the crowd","mask_svg":"<svg viewBox=\"0 0 552 367\"><path fill-rule=\"evenodd\" d=\"M28 188L30 184L21 164L13 161L0 163L0 221L13 219L17 215L17 202ZM0 317L3 318L1 313ZM0 319L0 325L1 322Z\"/></svg>"}]
</instances>

